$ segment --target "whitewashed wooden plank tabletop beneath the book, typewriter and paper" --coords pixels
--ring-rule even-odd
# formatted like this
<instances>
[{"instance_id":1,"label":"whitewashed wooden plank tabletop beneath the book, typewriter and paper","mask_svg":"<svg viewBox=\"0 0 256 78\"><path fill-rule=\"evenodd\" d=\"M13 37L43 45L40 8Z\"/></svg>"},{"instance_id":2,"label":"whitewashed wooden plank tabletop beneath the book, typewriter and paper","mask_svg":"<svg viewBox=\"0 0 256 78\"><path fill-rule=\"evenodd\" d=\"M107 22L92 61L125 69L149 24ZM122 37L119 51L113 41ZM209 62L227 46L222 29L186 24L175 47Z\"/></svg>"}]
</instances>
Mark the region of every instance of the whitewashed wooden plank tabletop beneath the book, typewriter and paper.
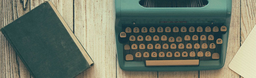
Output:
<instances>
[{"instance_id":1,"label":"whitewashed wooden plank tabletop beneath the book, typewriter and paper","mask_svg":"<svg viewBox=\"0 0 256 78\"><path fill-rule=\"evenodd\" d=\"M44 0L0 0L0 28L42 2ZM95 62L94 66L82 72L77 78L240 78L238 74L228 68L228 64L256 23L256 0L232 1L232 21L229 30L227 56L224 67L219 70L123 71L116 59L113 0L53 0L52 2ZM0 34L0 40L0 77L32 77L2 33Z\"/></svg>"}]
</instances>

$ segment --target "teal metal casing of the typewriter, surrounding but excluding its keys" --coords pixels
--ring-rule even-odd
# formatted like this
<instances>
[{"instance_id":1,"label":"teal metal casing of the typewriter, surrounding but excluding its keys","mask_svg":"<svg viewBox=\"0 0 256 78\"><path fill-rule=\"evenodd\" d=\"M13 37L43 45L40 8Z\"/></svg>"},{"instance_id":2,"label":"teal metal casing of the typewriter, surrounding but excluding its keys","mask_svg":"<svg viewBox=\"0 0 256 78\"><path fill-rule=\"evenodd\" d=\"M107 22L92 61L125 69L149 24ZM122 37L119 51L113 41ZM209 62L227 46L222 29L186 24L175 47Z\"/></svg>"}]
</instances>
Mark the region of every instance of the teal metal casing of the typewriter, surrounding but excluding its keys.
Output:
<instances>
[{"instance_id":1,"label":"teal metal casing of the typewriter, surrounding but excluding its keys","mask_svg":"<svg viewBox=\"0 0 256 78\"><path fill-rule=\"evenodd\" d=\"M134 71L189 71L214 70L224 66L229 26L231 21L232 0L208 0L208 4L200 8L145 8L140 6L140 0L115 0L116 8L116 46L117 58L121 69ZM160 23L160 21L186 21L186 23ZM136 25L224 25L227 32L222 35L220 59L213 61L199 61L199 66L168 66L146 67L144 62L125 61L123 45L118 41L123 24ZM212 22L214 24L212 24Z\"/></svg>"}]
</instances>

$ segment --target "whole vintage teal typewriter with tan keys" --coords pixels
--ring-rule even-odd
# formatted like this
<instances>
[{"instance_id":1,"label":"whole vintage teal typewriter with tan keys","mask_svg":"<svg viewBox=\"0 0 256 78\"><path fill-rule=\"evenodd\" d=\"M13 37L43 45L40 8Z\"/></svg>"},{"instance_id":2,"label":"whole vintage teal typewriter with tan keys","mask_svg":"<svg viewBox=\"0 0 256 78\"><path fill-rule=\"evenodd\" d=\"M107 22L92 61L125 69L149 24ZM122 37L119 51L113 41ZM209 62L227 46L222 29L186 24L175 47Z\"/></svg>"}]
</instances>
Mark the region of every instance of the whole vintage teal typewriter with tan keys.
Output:
<instances>
[{"instance_id":1,"label":"whole vintage teal typewriter with tan keys","mask_svg":"<svg viewBox=\"0 0 256 78\"><path fill-rule=\"evenodd\" d=\"M224 66L231 0L115 0L117 59L134 71Z\"/></svg>"}]
</instances>

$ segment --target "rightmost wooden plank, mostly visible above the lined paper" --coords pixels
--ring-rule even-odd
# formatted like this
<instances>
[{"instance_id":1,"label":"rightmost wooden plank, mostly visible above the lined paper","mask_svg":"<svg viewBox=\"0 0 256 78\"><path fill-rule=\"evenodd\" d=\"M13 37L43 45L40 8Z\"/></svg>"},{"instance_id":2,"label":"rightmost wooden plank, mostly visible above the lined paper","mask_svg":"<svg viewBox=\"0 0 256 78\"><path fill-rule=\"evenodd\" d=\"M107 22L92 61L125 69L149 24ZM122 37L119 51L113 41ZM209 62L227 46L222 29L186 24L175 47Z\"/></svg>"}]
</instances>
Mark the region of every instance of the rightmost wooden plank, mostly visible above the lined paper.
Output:
<instances>
[{"instance_id":1,"label":"rightmost wooden plank, mostly visible above the lined paper","mask_svg":"<svg viewBox=\"0 0 256 78\"><path fill-rule=\"evenodd\" d=\"M241 0L241 44L256 24L256 0ZM244 78L240 76L240 78Z\"/></svg>"}]
</instances>

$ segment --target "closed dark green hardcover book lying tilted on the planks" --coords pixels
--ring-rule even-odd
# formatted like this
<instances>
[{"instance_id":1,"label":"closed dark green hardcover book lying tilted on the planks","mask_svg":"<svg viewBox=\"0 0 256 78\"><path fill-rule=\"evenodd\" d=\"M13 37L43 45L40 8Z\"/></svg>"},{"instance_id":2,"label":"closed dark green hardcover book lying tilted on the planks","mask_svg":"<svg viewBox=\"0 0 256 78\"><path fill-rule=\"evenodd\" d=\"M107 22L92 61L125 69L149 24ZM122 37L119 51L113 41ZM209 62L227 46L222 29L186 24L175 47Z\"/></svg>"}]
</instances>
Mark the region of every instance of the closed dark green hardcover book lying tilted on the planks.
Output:
<instances>
[{"instance_id":1,"label":"closed dark green hardcover book lying tilted on the planks","mask_svg":"<svg viewBox=\"0 0 256 78\"><path fill-rule=\"evenodd\" d=\"M1 29L34 78L71 78L93 65L52 2Z\"/></svg>"}]
</instances>

